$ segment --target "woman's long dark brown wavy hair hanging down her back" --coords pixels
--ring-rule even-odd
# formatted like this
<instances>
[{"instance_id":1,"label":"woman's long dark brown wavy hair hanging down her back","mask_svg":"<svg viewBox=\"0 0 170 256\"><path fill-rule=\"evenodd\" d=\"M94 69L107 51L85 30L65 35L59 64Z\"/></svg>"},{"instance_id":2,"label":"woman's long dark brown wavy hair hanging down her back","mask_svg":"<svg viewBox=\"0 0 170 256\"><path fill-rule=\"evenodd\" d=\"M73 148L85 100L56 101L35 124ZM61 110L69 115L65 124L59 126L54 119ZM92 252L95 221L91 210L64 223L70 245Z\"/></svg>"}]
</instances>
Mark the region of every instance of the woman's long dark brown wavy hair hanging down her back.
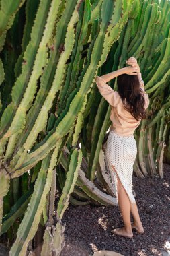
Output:
<instances>
[{"instance_id":1,"label":"woman's long dark brown wavy hair hanging down her back","mask_svg":"<svg viewBox=\"0 0 170 256\"><path fill-rule=\"evenodd\" d=\"M140 89L138 75L122 74L117 77L118 93L124 108L137 120L146 118L144 95Z\"/></svg>"}]
</instances>

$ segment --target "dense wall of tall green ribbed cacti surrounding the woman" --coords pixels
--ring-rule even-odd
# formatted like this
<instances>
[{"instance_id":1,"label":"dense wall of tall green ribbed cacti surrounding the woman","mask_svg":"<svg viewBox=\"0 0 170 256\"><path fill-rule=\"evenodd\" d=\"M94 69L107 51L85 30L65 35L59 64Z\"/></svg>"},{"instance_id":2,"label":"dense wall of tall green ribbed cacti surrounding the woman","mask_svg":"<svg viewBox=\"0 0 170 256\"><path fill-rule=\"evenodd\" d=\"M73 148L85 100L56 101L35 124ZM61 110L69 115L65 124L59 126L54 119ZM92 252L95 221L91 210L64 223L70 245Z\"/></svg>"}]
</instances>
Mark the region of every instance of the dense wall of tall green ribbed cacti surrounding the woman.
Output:
<instances>
[{"instance_id":1,"label":"dense wall of tall green ribbed cacti surrounding the woman","mask_svg":"<svg viewBox=\"0 0 170 256\"><path fill-rule=\"evenodd\" d=\"M95 77L131 56L150 96L134 172L163 177L169 27L168 0L1 0L0 220L10 255L60 255L69 203L117 205L104 154L110 106Z\"/></svg>"}]
</instances>

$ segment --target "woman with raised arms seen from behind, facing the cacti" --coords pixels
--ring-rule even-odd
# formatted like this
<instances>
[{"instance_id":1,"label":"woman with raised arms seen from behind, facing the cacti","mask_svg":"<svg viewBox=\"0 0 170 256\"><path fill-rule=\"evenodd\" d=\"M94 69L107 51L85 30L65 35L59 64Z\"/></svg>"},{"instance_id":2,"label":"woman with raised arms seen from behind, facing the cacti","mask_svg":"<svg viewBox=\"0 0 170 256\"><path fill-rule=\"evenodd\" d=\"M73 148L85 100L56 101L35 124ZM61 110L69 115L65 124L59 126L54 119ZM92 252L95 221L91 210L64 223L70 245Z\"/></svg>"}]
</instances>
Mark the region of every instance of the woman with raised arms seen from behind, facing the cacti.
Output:
<instances>
[{"instance_id":1,"label":"woman with raised arms seen from behind, facing the cacti","mask_svg":"<svg viewBox=\"0 0 170 256\"><path fill-rule=\"evenodd\" d=\"M137 155L134 130L146 117L149 98L144 91L144 83L136 59L130 57L126 63L130 66L101 77L97 76L95 82L100 94L111 106L112 125L106 142L105 160L113 177L116 201L124 222L124 227L115 228L112 232L132 238L132 229L140 234L144 233L138 207L132 194L132 172ZM106 84L115 77L118 77L118 92ZM132 223L130 212L134 219Z\"/></svg>"}]
</instances>

